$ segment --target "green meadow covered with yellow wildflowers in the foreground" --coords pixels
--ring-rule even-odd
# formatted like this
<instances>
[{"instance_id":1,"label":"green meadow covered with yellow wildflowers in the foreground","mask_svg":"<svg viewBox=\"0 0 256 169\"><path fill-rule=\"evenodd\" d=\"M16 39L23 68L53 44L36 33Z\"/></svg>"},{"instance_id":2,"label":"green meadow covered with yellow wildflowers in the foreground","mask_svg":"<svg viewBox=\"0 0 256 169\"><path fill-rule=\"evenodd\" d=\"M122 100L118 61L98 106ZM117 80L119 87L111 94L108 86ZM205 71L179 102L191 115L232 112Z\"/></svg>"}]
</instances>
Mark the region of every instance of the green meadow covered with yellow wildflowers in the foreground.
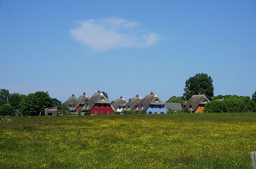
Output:
<instances>
[{"instance_id":1,"label":"green meadow covered with yellow wildflowers in the foreground","mask_svg":"<svg viewBox=\"0 0 256 169\"><path fill-rule=\"evenodd\" d=\"M0 118L0 168L250 168L256 151L256 113Z\"/></svg>"}]
</instances>

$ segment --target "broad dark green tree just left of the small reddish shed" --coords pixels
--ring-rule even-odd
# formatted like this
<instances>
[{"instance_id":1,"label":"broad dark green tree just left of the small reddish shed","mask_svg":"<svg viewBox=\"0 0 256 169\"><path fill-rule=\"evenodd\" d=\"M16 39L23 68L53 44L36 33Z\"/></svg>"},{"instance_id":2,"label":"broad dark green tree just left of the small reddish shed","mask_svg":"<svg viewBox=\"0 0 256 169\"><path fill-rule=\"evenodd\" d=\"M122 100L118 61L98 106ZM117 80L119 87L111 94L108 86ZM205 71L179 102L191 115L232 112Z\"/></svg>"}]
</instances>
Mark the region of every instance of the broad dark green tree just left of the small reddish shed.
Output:
<instances>
[{"instance_id":1,"label":"broad dark green tree just left of the small reddish shed","mask_svg":"<svg viewBox=\"0 0 256 169\"><path fill-rule=\"evenodd\" d=\"M19 104L21 113L30 116L39 115L40 112L44 113L44 109L51 106L52 98L49 96L48 91L30 93Z\"/></svg>"}]
</instances>

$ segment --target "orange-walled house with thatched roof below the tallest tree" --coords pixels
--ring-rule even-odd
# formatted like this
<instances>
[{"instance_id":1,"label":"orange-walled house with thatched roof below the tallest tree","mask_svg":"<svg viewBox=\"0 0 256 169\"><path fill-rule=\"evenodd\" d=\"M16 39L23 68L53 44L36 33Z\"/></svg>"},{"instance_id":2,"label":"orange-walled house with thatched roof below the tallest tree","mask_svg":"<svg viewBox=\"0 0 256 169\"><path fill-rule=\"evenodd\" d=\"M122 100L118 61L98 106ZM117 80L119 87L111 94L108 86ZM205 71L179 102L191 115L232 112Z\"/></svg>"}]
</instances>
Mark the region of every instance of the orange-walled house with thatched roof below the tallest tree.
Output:
<instances>
[{"instance_id":1,"label":"orange-walled house with thatched roof below the tallest tree","mask_svg":"<svg viewBox=\"0 0 256 169\"><path fill-rule=\"evenodd\" d=\"M198 95L192 96L186 103L185 108L190 110L193 113L202 113L204 110L204 105L210 102L210 100L201 93Z\"/></svg>"}]
</instances>

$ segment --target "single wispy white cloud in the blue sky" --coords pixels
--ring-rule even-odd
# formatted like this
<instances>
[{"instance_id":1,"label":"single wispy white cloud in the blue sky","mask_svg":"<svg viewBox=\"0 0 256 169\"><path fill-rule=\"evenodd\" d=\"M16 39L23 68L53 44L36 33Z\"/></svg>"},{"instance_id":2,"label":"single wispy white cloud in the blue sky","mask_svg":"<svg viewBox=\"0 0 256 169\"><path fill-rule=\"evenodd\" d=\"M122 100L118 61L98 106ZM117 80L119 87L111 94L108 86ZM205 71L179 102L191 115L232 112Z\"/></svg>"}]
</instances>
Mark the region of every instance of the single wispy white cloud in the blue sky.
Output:
<instances>
[{"instance_id":1,"label":"single wispy white cloud in the blue sky","mask_svg":"<svg viewBox=\"0 0 256 169\"><path fill-rule=\"evenodd\" d=\"M89 46L92 52L117 48L149 48L161 40L157 33L141 29L140 24L121 18L75 21L72 37Z\"/></svg>"}]
</instances>

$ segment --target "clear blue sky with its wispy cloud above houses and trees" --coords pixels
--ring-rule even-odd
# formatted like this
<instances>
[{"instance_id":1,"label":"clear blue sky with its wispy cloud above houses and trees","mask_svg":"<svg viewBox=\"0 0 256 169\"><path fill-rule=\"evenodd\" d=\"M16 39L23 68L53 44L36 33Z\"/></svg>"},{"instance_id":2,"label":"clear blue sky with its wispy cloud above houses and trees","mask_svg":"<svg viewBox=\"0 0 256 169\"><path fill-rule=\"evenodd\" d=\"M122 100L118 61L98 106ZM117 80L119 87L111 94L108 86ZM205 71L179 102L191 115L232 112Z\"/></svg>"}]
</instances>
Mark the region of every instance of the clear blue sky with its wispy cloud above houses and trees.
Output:
<instances>
[{"instance_id":1,"label":"clear blue sky with its wispy cloud above houses and trees","mask_svg":"<svg viewBox=\"0 0 256 169\"><path fill-rule=\"evenodd\" d=\"M214 95L256 90L256 1L0 1L0 88L181 96L196 73Z\"/></svg>"}]
</instances>

